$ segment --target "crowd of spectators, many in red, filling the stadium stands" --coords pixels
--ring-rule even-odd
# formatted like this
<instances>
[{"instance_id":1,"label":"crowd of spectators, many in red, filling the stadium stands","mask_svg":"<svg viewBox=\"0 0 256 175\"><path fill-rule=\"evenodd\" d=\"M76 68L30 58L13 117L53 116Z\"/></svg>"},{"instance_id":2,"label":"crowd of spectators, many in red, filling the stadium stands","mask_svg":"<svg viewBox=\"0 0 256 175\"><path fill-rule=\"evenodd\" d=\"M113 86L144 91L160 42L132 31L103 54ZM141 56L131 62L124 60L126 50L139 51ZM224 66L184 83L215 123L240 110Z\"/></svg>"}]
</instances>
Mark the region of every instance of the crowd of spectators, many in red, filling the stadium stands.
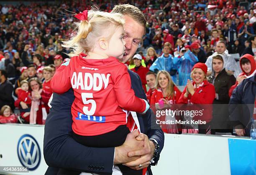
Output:
<instances>
[{"instance_id":1,"label":"crowd of spectators, many in red, filling the stadium stands","mask_svg":"<svg viewBox=\"0 0 256 175\"><path fill-rule=\"evenodd\" d=\"M52 94L51 77L61 63L69 61L66 54L69 53L69 48L63 48L61 41L76 34L73 30L73 25L77 22L74 13L89 10L93 6L110 12L116 3L117 1L82 0L62 1L54 5L0 5L2 118L13 117L12 111L19 109L19 122L44 124ZM241 63L239 59L247 54L254 58L256 56L256 2L122 0L118 3L135 5L143 11L147 20L141 43L135 43L139 44L138 54L126 64L141 77L150 103L161 103L160 99L164 99L164 103L189 103L189 100L179 96L192 98L195 93L192 86L198 85L192 75L205 74L202 82L207 84L205 80L208 77L211 78L210 83L218 86L217 77L223 70L225 82L229 83L225 88L215 87L214 99L207 103L220 103L218 100L223 93L225 100L221 103L228 103L232 94L231 91L228 96L230 87L235 83L236 86L240 84L246 75L255 74L255 61L252 62L248 56L245 57L249 60L247 62ZM214 68L218 62L216 60L223 64L219 72ZM206 64L206 72L205 66L198 67L198 63ZM244 73L241 76L245 72L243 65L246 63L251 64L250 74ZM198 68L202 70L201 73L198 73ZM157 77L154 73L158 73ZM171 88L167 91L163 87L164 83L159 83L165 80L169 84L166 86ZM186 86L185 91L182 93L177 86ZM153 95L155 88L163 91L163 94L158 92ZM17 120L10 119L10 122ZM166 132L176 133L177 129Z\"/></svg>"}]
</instances>

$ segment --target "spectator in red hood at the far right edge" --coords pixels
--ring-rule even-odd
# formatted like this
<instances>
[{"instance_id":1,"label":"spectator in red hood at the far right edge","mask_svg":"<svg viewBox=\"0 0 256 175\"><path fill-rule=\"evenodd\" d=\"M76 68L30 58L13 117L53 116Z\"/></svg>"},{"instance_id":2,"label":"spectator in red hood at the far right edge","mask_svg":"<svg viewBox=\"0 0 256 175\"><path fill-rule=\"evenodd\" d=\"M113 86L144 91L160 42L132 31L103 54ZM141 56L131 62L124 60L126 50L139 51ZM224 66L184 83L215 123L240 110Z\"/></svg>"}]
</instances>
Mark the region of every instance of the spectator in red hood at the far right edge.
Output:
<instances>
[{"instance_id":1,"label":"spectator in red hood at the far right edge","mask_svg":"<svg viewBox=\"0 0 256 175\"><path fill-rule=\"evenodd\" d=\"M240 58L240 67L242 73L236 78L236 84L230 87L228 95L231 96L233 90L244 80L252 77L256 73L256 63L254 57L250 54L245 54Z\"/></svg>"}]
</instances>

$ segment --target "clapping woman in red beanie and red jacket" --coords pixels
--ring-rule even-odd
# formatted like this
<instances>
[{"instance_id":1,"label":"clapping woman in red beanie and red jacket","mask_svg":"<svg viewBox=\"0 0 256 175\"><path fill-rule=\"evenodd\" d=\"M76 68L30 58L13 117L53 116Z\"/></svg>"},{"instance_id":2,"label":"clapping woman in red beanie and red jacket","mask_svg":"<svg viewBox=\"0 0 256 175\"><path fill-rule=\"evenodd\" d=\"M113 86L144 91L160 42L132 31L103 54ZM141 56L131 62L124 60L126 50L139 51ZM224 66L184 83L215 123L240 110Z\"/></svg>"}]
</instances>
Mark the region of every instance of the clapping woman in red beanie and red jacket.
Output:
<instances>
[{"instance_id":1,"label":"clapping woman in red beanie and red jacket","mask_svg":"<svg viewBox=\"0 0 256 175\"><path fill-rule=\"evenodd\" d=\"M187 86L184 88L179 98L178 104L189 104L193 110L197 109L192 104L212 104L215 98L215 89L206 79L207 66L204 63L196 63L191 72L192 81L187 80ZM202 107L201 109L202 110ZM195 120L205 121L206 124L198 124L198 126L183 127L182 133L199 133L210 134L210 124L212 120L212 107L210 105L204 109L203 117L195 116Z\"/></svg>"}]
</instances>

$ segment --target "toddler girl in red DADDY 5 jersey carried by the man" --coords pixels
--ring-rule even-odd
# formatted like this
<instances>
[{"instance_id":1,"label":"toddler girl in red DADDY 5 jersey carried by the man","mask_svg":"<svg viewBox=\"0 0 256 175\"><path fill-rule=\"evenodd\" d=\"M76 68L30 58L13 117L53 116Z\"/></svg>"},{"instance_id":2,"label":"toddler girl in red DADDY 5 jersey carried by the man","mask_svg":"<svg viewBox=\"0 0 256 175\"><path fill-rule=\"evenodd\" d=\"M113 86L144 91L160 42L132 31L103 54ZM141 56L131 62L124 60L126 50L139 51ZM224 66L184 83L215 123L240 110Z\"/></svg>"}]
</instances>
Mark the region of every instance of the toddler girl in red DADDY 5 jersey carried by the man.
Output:
<instances>
[{"instance_id":1,"label":"toddler girl in red DADDY 5 jersey carried by the man","mask_svg":"<svg viewBox=\"0 0 256 175\"><path fill-rule=\"evenodd\" d=\"M122 145L130 132L124 109L144 114L149 108L146 100L135 96L127 68L117 59L125 50L123 15L85 10L75 17L82 20L77 35L63 45L74 48L74 57L57 69L51 88L60 94L74 90L72 129L77 142L90 147ZM119 167L124 175L136 175L135 170Z\"/></svg>"}]
</instances>

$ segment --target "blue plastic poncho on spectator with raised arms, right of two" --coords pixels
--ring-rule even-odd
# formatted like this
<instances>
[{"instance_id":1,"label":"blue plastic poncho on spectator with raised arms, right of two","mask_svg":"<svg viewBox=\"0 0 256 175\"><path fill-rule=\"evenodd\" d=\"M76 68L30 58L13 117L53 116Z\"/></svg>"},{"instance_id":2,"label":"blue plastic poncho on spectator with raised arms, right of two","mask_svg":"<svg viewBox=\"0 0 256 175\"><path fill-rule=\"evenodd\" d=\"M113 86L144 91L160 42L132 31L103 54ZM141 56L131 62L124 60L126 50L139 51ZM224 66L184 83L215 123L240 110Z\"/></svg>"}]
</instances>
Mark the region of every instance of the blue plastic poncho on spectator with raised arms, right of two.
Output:
<instances>
[{"instance_id":1,"label":"blue plastic poncho on spectator with raised arms, right of two","mask_svg":"<svg viewBox=\"0 0 256 175\"><path fill-rule=\"evenodd\" d=\"M187 51L184 56L173 58L173 64L178 68L179 86L186 86L187 79L191 80L190 74L195 63L198 62L197 56L191 51Z\"/></svg>"}]
</instances>

